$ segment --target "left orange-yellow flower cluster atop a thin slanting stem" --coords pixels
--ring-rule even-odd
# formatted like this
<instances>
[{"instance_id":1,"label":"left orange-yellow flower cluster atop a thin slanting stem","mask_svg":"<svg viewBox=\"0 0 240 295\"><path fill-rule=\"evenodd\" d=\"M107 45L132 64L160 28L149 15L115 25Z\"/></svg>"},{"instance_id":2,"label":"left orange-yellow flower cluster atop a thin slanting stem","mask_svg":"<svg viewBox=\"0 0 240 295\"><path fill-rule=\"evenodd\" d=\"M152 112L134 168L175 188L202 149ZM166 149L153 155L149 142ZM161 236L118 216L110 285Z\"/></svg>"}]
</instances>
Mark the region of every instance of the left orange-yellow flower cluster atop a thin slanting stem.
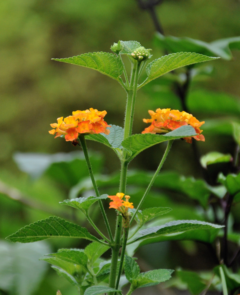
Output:
<instances>
[{"instance_id":1,"label":"left orange-yellow flower cluster atop a thin slanting stem","mask_svg":"<svg viewBox=\"0 0 240 295\"><path fill-rule=\"evenodd\" d=\"M52 129L50 134L55 134L55 138L65 135L66 141L73 141L78 138L78 134L88 133L105 133L109 134L110 130L106 129L109 126L104 120L106 111L98 111L90 108L86 111L75 111L72 116L57 118L57 123L50 124Z\"/></svg>"}]
</instances>

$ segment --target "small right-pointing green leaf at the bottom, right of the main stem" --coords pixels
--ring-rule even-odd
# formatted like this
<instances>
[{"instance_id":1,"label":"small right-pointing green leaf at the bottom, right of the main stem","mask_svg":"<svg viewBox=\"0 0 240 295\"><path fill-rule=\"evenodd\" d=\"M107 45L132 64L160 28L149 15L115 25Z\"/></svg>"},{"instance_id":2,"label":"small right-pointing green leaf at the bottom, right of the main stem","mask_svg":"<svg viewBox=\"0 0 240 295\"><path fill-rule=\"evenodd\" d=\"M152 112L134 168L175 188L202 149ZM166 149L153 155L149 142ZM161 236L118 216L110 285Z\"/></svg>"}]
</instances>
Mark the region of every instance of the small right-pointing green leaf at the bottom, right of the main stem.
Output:
<instances>
[{"instance_id":1,"label":"small right-pointing green leaf at the bottom, right of the main stem","mask_svg":"<svg viewBox=\"0 0 240 295\"><path fill-rule=\"evenodd\" d=\"M173 272L174 270L172 269L155 269L140 273L137 279L137 288L155 286L165 282L171 278Z\"/></svg>"}]
</instances>

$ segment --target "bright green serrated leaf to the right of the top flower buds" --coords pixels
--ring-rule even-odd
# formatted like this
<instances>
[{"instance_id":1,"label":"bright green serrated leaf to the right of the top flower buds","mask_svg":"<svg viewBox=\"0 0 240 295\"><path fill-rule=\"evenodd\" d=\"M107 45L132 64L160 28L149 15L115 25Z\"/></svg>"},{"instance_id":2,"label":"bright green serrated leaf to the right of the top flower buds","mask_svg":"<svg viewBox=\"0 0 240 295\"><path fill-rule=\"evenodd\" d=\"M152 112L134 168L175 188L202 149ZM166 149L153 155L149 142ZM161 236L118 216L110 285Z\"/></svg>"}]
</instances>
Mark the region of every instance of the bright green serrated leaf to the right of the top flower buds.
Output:
<instances>
[{"instance_id":1,"label":"bright green serrated leaf to the right of the top flower buds","mask_svg":"<svg viewBox=\"0 0 240 295\"><path fill-rule=\"evenodd\" d=\"M210 57L192 52L177 52L162 56L147 65L146 71L148 78L140 85L140 87L177 68L217 58L218 57Z\"/></svg>"}]
</instances>

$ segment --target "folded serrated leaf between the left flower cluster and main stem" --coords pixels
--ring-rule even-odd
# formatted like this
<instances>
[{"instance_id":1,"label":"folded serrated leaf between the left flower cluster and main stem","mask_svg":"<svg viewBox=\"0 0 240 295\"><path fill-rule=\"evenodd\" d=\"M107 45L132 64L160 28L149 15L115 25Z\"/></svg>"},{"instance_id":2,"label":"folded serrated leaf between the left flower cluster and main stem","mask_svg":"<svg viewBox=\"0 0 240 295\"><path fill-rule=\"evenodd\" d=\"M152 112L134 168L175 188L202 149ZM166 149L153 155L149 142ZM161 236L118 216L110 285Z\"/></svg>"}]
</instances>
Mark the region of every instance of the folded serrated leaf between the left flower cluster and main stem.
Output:
<instances>
[{"instance_id":1,"label":"folded serrated leaf between the left flower cluster and main stem","mask_svg":"<svg viewBox=\"0 0 240 295\"><path fill-rule=\"evenodd\" d=\"M89 134L86 135L86 139L94 140L100 142L109 148L122 148L121 143L123 141L123 128L116 125L111 125L107 127L110 130L109 134Z\"/></svg>"}]
</instances>

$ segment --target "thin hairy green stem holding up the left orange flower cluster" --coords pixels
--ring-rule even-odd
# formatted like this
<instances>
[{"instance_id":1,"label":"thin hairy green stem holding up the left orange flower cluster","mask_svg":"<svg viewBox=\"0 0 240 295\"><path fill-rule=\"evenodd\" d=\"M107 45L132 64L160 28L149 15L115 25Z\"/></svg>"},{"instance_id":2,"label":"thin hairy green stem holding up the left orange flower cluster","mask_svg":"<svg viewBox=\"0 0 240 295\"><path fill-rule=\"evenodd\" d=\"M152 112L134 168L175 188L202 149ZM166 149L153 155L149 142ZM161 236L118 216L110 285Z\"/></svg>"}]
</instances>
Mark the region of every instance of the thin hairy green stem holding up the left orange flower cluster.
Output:
<instances>
[{"instance_id":1,"label":"thin hairy green stem holding up the left orange flower cluster","mask_svg":"<svg viewBox=\"0 0 240 295\"><path fill-rule=\"evenodd\" d=\"M90 177L91 177L91 181L92 181L92 184L93 184L93 189L95 191L96 196L99 197L100 194L99 194L98 187L97 187L94 175L93 175L92 165L91 165L91 162L90 162L90 159L89 159L89 156L88 156L88 149L87 149L87 145L86 145L86 139L85 139L83 134L79 135L79 140L80 140L80 143L81 143L81 146L82 146L82 149L83 149L83 153L84 153L84 156L85 156L85 160L86 160L86 163L87 163L87 166L88 166L88 172L89 172ZM112 233L111 233L109 222L108 222L105 210L103 208L102 201L100 199L98 199L98 204L100 206L100 209L101 209L101 212L102 212L102 215L103 215L103 219L105 221L107 231L108 231L108 234L109 234L109 237L110 237L110 240L111 240L111 242L113 242L113 236L112 236Z\"/></svg>"}]
</instances>

